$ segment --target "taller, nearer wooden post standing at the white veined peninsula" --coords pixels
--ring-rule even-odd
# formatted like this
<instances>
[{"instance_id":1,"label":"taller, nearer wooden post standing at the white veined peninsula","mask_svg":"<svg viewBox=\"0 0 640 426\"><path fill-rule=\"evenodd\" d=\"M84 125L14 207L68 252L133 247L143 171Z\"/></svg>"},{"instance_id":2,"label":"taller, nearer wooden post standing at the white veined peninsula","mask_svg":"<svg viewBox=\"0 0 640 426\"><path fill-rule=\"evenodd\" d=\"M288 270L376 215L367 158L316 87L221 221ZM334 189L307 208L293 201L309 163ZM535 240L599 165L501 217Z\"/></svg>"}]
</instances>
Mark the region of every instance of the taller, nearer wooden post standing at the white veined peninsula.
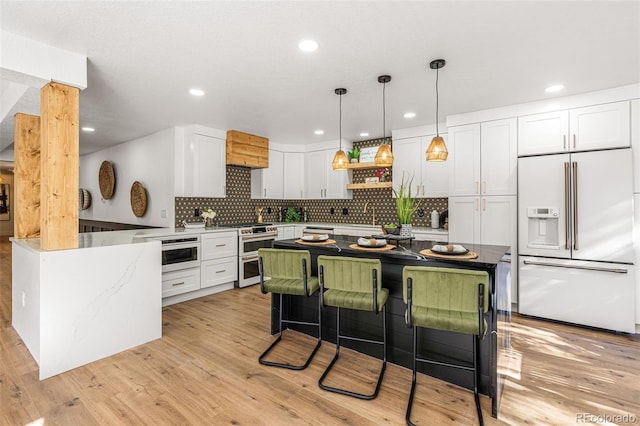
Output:
<instances>
[{"instance_id":1,"label":"taller, nearer wooden post standing at the white veined peninsula","mask_svg":"<svg viewBox=\"0 0 640 426\"><path fill-rule=\"evenodd\" d=\"M40 94L40 248L78 248L80 90L49 83Z\"/></svg>"}]
</instances>

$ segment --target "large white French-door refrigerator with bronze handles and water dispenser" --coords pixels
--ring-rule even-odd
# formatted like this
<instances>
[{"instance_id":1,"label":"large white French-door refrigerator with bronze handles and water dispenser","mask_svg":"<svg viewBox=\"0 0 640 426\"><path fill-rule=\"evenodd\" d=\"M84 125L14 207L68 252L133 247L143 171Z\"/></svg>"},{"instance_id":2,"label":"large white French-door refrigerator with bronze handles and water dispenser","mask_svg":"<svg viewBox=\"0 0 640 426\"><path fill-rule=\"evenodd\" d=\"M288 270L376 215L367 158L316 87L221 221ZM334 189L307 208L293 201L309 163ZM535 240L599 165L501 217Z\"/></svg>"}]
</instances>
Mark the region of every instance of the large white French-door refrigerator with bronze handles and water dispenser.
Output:
<instances>
[{"instance_id":1,"label":"large white French-door refrigerator with bronze handles and water dispenser","mask_svg":"<svg viewBox=\"0 0 640 426\"><path fill-rule=\"evenodd\" d=\"M631 149L518 158L519 312L635 332Z\"/></svg>"}]
</instances>

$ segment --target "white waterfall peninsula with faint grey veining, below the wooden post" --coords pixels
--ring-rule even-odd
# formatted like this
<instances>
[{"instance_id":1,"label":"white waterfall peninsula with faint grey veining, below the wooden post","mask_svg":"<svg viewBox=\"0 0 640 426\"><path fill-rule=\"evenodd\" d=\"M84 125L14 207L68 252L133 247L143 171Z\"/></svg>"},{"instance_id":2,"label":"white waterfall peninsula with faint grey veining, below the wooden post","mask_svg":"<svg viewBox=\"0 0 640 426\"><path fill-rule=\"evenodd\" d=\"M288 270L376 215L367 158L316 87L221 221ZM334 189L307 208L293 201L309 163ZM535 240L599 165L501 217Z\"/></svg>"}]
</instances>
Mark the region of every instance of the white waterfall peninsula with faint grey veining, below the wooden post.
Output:
<instances>
[{"instance_id":1,"label":"white waterfall peninsula with faint grey veining, below the wooden post","mask_svg":"<svg viewBox=\"0 0 640 426\"><path fill-rule=\"evenodd\" d=\"M162 336L158 230L80 234L77 249L12 239L13 327L40 380Z\"/></svg>"}]
</instances>

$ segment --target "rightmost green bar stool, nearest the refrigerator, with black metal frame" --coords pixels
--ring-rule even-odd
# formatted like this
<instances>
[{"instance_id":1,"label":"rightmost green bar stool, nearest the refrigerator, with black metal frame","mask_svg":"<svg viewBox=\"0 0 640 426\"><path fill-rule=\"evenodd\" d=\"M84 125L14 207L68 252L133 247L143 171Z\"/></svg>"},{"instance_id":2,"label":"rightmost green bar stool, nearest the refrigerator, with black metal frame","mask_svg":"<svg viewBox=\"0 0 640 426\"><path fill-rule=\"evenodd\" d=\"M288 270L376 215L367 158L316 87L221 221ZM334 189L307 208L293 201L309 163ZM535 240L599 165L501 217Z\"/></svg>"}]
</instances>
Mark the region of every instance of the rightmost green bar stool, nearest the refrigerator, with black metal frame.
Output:
<instances>
[{"instance_id":1,"label":"rightmost green bar stool, nearest the refrigerator, with black metal frame","mask_svg":"<svg viewBox=\"0 0 640 426\"><path fill-rule=\"evenodd\" d=\"M413 366L411 393L406 420L411 422L411 408L416 389L416 362L460 368L473 372L473 396L478 420L484 425L478 396L478 345L484 338L488 310L489 274L467 269L405 266L402 271L403 298L407 304L405 322L413 329ZM452 364L418 357L417 328L432 328L470 334L473 337L473 365Z\"/></svg>"}]
</instances>

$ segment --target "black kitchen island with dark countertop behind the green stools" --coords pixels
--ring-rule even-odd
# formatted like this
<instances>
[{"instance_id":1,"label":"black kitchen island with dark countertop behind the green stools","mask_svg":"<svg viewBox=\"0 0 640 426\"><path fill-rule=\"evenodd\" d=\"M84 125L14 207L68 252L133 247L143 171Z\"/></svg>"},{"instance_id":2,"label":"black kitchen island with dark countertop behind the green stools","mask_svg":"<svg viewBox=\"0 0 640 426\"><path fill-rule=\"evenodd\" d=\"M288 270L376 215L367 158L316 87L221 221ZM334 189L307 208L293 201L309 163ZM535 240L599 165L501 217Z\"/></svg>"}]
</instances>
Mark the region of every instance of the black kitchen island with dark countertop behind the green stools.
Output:
<instances>
[{"instance_id":1,"label":"black kitchen island with dark countertop behind the green stools","mask_svg":"<svg viewBox=\"0 0 640 426\"><path fill-rule=\"evenodd\" d=\"M509 331L508 323L511 319L510 300L510 261L505 255L509 251L506 246L465 244L470 251L478 253L476 259L462 260L454 256L447 259L426 257L421 250L433 246L432 241L403 241L397 248L390 251L364 251L350 247L357 242L358 237L345 235L330 235L335 240L331 245L310 245L297 243L295 239L280 240L274 243L275 248L309 250L311 252L311 271L317 274L318 255L352 256L380 259L382 263L382 286L389 289L387 301L387 333L388 360L407 368L411 368L412 334L404 322L405 304L402 299L402 268L406 265L424 265L434 267L453 267L462 269L477 269L489 273L490 306L487 313L488 332L479 347L481 380L480 393L492 400L492 416L497 417L500 396L503 387L503 372L505 363L509 359ZM318 294L310 298L283 299L285 316L294 318L317 318ZM271 329L278 331L279 299L272 296ZM335 343L336 322L335 308L324 308L323 339ZM344 311L341 313L342 331L357 332L358 335L375 338L379 328L377 318L373 313L362 311ZM293 327L292 327L293 328ZM303 326L298 330L307 333L313 331ZM357 331L356 331L357 330ZM472 362L472 338L467 335L444 332L439 330L424 330L419 333L420 348L428 351L429 356L456 363ZM370 348L358 342L349 342L345 346L371 356L380 357L379 348ZM422 364L422 363L421 363ZM499 369L500 366L500 369ZM419 371L433 377L463 386L473 388L473 377L470 373L445 368L437 365L419 365Z\"/></svg>"}]
</instances>

